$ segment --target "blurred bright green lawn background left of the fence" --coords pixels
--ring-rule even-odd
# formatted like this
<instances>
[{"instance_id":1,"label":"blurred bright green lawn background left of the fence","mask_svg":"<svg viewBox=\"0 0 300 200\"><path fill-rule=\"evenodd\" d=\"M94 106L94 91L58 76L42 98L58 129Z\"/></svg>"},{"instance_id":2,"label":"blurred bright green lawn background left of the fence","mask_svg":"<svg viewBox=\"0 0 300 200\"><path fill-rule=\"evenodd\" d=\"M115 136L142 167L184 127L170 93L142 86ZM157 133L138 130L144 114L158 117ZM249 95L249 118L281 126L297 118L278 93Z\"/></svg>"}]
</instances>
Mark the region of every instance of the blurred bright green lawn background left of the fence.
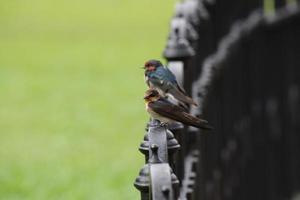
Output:
<instances>
[{"instance_id":1,"label":"blurred bright green lawn background left of the fence","mask_svg":"<svg viewBox=\"0 0 300 200\"><path fill-rule=\"evenodd\" d=\"M138 199L173 0L0 1L0 199Z\"/></svg>"}]
</instances>

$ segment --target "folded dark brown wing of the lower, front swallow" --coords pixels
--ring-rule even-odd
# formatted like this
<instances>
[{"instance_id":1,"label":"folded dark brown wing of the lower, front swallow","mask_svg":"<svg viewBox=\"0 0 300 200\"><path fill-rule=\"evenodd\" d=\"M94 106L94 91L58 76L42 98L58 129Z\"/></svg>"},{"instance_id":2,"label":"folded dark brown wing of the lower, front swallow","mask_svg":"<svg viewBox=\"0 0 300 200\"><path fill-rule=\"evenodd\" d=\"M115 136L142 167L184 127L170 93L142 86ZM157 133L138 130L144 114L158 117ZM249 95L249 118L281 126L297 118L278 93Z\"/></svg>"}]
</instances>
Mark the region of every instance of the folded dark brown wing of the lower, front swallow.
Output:
<instances>
[{"instance_id":1,"label":"folded dark brown wing of the lower, front swallow","mask_svg":"<svg viewBox=\"0 0 300 200\"><path fill-rule=\"evenodd\" d=\"M148 107L163 117L179 121L187 125L196 127L201 127L204 124L208 125L206 120L202 120L190 115L189 113L185 112L183 108L174 105L165 99L151 102L148 104Z\"/></svg>"}]
</instances>

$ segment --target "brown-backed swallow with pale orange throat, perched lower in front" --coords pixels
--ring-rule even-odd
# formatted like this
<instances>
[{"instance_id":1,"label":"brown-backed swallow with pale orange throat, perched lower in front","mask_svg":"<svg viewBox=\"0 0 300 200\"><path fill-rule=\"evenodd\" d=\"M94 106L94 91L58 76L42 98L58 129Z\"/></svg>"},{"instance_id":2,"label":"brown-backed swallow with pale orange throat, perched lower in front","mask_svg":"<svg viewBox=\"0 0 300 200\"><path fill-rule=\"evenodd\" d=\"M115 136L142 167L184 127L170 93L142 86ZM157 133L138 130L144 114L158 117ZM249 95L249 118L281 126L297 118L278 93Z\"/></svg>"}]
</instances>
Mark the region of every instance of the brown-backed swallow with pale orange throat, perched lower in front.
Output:
<instances>
[{"instance_id":1,"label":"brown-backed swallow with pale orange throat, perched lower in front","mask_svg":"<svg viewBox=\"0 0 300 200\"><path fill-rule=\"evenodd\" d=\"M155 89L148 89L145 92L144 100L147 112L153 119L159 120L162 125L177 121L196 128L213 129L206 120L194 117L182 107L172 104L166 98L161 97Z\"/></svg>"}]
</instances>

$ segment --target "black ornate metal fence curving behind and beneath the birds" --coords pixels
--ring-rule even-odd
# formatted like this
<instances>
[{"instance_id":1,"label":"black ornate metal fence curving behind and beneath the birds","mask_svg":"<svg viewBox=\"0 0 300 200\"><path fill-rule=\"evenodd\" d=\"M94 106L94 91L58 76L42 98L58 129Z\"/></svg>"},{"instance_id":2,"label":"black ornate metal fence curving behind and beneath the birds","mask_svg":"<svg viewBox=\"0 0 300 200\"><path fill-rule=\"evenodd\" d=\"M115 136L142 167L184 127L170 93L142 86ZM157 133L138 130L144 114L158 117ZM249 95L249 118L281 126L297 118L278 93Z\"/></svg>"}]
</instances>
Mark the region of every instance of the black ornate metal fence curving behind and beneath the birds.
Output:
<instances>
[{"instance_id":1,"label":"black ornate metal fence curving behind and beneath the birds","mask_svg":"<svg viewBox=\"0 0 300 200\"><path fill-rule=\"evenodd\" d=\"M215 130L149 122L142 199L300 198L299 1L274 3L270 15L261 0L176 6L164 56Z\"/></svg>"}]
</instances>

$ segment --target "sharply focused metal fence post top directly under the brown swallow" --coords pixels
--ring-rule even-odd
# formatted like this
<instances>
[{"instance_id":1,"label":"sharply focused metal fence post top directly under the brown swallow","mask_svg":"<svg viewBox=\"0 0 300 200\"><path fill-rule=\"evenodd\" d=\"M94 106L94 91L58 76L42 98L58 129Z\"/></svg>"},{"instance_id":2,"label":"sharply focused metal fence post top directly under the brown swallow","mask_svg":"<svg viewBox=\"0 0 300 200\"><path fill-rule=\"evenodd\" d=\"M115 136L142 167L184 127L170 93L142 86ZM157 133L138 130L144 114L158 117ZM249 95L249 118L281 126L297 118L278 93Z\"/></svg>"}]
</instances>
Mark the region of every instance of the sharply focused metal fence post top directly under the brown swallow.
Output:
<instances>
[{"instance_id":1,"label":"sharply focused metal fence post top directly under the brown swallow","mask_svg":"<svg viewBox=\"0 0 300 200\"><path fill-rule=\"evenodd\" d=\"M150 120L146 130L139 147L145 155L146 164L140 170L134 186L141 192L142 200L173 200L178 195L179 180L170 167L169 157L173 161L172 157L180 145L172 132L157 120Z\"/></svg>"}]
</instances>

